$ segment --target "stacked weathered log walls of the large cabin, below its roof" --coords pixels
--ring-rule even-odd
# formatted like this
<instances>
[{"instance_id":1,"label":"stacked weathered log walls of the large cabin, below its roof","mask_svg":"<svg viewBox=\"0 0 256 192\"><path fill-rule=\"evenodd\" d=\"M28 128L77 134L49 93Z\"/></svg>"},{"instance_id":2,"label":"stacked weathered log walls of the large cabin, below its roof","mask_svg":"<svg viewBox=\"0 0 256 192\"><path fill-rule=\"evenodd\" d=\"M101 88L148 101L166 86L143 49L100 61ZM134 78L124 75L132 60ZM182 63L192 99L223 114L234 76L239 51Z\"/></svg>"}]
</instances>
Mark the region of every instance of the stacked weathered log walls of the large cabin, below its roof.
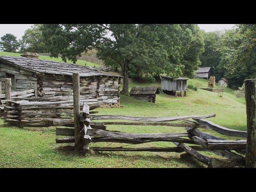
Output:
<instances>
[{"instance_id":1,"label":"stacked weathered log walls of the large cabin, below its roof","mask_svg":"<svg viewBox=\"0 0 256 192\"><path fill-rule=\"evenodd\" d=\"M72 99L72 76L39 74L16 66L0 63L0 82L4 92L5 78L12 78L12 91L24 91L36 85L39 97ZM88 102L119 104L120 78L113 76L80 77L80 99Z\"/></svg>"}]
</instances>

